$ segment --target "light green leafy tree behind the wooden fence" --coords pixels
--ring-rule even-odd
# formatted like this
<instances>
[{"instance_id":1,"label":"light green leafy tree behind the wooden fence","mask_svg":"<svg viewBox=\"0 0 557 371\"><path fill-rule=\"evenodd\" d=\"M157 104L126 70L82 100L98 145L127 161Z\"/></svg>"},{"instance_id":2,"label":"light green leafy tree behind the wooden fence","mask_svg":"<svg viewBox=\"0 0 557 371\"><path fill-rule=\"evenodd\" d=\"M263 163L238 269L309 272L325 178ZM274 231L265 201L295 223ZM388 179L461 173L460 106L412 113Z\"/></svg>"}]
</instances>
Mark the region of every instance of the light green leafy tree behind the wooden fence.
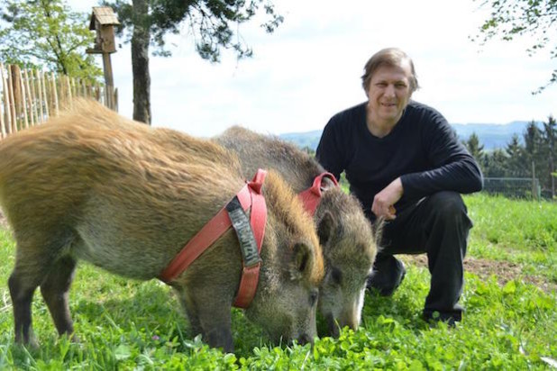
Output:
<instances>
[{"instance_id":1,"label":"light green leafy tree behind the wooden fence","mask_svg":"<svg viewBox=\"0 0 557 371\"><path fill-rule=\"evenodd\" d=\"M70 12L64 0L7 0L0 16L0 59L22 67L48 68L70 77L102 76L85 50L93 45L87 14Z\"/></svg>"}]
</instances>

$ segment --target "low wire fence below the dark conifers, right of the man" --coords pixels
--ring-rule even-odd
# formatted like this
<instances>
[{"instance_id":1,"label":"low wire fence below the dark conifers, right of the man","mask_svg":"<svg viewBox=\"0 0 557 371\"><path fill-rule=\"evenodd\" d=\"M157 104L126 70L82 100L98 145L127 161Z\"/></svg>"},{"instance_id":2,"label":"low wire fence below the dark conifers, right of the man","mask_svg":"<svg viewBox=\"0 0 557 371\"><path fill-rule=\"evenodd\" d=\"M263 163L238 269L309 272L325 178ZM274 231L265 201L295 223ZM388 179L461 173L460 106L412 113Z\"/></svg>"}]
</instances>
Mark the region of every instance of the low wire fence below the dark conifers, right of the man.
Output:
<instances>
[{"instance_id":1,"label":"low wire fence below the dark conifers, right of the man","mask_svg":"<svg viewBox=\"0 0 557 371\"><path fill-rule=\"evenodd\" d=\"M485 177L483 191L489 194L539 200L542 193L538 178Z\"/></svg>"}]
</instances>

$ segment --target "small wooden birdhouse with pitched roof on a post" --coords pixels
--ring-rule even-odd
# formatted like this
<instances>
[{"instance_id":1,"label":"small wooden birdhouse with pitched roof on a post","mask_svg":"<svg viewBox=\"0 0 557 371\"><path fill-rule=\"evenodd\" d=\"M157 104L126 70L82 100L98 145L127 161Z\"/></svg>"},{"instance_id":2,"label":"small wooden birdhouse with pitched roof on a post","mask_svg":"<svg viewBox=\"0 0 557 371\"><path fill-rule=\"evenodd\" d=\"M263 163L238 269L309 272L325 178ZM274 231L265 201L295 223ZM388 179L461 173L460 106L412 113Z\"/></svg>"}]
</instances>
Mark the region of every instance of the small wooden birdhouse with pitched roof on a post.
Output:
<instances>
[{"instance_id":1,"label":"small wooden birdhouse with pitched roof on a post","mask_svg":"<svg viewBox=\"0 0 557 371\"><path fill-rule=\"evenodd\" d=\"M89 30L96 31L95 47L87 49L89 54L114 53L114 26L120 24L109 6L94 6Z\"/></svg>"}]
</instances>

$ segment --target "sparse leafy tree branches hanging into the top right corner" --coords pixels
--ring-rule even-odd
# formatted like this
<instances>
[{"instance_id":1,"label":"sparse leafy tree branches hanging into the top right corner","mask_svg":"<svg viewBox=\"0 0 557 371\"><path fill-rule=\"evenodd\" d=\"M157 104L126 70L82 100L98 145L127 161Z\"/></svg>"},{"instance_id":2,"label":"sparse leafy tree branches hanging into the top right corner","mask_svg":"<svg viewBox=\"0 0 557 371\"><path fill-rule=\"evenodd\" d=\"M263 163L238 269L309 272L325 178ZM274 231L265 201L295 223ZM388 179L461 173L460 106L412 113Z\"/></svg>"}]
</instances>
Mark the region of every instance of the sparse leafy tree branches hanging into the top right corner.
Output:
<instances>
[{"instance_id":1,"label":"sparse leafy tree branches hanging into the top right corner","mask_svg":"<svg viewBox=\"0 0 557 371\"><path fill-rule=\"evenodd\" d=\"M481 0L481 6L489 6L491 14L479 28L482 43L495 37L512 41L516 36L534 36L534 44L526 50L532 55L545 47L551 49L551 58L557 58L555 25L557 21L557 1L555 0ZM557 82L557 68L545 86L540 86L534 94Z\"/></svg>"}]
</instances>

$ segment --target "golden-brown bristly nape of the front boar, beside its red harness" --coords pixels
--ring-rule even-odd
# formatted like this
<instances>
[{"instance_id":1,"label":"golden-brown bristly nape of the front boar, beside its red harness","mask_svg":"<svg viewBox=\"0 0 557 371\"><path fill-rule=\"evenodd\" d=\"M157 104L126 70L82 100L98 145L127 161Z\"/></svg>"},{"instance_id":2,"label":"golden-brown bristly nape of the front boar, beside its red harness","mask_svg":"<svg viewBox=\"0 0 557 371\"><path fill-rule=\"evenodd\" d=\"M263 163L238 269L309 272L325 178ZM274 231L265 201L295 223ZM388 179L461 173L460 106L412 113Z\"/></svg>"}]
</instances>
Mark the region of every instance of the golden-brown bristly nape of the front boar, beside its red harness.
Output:
<instances>
[{"instance_id":1,"label":"golden-brown bristly nape of the front boar, beside its red harness","mask_svg":"<svg viewBox=\"0 0 557 371\"><path fill-rule=\"evenodd\" d=\"M273 170L269 170L263 192L267 200L267 205L272 209L272 213L278 215L285 221L290 232L299 236L311 236L311 240L306 241L307 245L315 248L313 259L309 261L309 268L306 270L306 277L313 285L319 285L324 276L323 251L315 233L314 223L311 216L306 213L297 195L286 182ZM275 207L273 207L275 206ZM294 246L290 246L294 249Z\"/></svg>"}]
</instances>

